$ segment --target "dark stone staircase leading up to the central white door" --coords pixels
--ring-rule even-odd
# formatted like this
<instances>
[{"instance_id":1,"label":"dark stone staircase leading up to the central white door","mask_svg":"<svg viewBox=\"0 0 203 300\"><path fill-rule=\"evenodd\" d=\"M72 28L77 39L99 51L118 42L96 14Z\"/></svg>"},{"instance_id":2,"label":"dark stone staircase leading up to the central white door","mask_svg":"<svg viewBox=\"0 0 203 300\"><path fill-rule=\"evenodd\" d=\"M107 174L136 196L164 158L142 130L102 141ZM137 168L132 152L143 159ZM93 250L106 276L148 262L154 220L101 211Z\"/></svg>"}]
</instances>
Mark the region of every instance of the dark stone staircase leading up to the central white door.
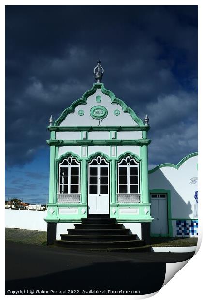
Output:
<instances>
[{"instance_id":1,"label":"dark stone staircase leading up to the central white door","mask_svg":"<svg viewBox=\"0 0 203 300\"><path fill-rule=\"evenodd\" d=\"M109 215L89 215L81 222L74 224L75 229L67 229L68 234L61 234L61 240L54 240L54 244L74 250L150 252L145 240L131 234L130 229Z\"/></svg>"}]
</instances>

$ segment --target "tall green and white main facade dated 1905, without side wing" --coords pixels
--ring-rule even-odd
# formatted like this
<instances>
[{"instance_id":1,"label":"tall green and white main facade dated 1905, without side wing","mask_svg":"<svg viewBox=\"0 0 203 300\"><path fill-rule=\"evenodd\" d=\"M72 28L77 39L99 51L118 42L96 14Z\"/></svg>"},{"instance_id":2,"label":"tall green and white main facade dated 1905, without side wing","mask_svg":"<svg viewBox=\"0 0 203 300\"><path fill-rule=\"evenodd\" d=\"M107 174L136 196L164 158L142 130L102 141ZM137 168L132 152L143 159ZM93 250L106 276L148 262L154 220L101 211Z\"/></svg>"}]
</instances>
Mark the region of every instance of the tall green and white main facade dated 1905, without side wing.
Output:
<instances>
[{"instance_id":1,"label":"tall green and white main facade dated 1905, without side wing","mask_svg":"<svg viewBox=\"0 0 203 300\"><path fill-rule=\"evenodd\" d=\"M89 214L109 214L139 236L142 224L150 230L149 128L100 82L50 120L48 231Z\"/></svg>"}]
</instances>

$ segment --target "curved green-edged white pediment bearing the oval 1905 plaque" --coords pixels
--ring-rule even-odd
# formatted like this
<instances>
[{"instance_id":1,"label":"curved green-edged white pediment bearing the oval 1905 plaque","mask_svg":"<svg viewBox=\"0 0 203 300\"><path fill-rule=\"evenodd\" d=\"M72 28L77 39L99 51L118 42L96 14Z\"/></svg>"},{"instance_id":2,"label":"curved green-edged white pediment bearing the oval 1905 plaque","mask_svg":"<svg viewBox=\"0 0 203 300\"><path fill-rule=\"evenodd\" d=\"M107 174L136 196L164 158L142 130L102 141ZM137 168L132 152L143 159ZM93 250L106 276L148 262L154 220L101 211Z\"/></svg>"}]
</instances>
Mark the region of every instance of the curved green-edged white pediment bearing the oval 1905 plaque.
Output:
<instances>
[{"instance_id":1,"label":"curved green-edged white pediment bearing the oval 1905 plaque","mask_svg":"<svg viewBox=\"0 0 203 300\"><path fill-rule=\"evenodd\" d=\"M55 126L143 126L143 121L103 83L95 83L55 121Z\"/></svg>"}]
</instances>

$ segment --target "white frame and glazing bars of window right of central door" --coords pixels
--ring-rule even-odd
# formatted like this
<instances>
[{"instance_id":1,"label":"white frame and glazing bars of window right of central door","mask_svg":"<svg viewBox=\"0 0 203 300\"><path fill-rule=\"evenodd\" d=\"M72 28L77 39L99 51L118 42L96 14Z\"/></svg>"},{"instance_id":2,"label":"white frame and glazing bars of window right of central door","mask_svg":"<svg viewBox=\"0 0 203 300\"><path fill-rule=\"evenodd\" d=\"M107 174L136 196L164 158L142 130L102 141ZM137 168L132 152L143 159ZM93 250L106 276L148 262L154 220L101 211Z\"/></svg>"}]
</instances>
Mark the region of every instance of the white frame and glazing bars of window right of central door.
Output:
<instances>
[{"instance_id":1,"label":"white frame and glazing bars of window right of central door","mask_svg":"<svg viewBox=\"0 0 203 300\"><path fill-rule=\"evenodd\" d=\"M129 164L127 163L126 165L121 165L121 163L123 161L126 161L127 162L127 158L130 158L130 162L133 160L135 162L135 165L130 165L130 162ZM140 169L139 169L139 163L134 159L134 158L131 158L130 156L127 156L127 157L124 157L121 159L121 161L117 164L118 166L118 178L117 178L117 190L118 190L118 194L119 195L127 195L127 194L140 194ZM119 183L119 180L120 180L120 167L127 167L127 193L120 193L120 183ZM138 183L137 184L130 184L130 168L131 167L137 167L137 179L138 179ZM121 175L123 176L123 175ZM125 176L125 175L124 175ZM122 184L121 184L122 185ZM126 184L123 184L123 185L126 185ZM138 187L138 192L137 193L131 193L130 191L130 186L131 185L137 185Z\"/></svg>"}]
</instances>

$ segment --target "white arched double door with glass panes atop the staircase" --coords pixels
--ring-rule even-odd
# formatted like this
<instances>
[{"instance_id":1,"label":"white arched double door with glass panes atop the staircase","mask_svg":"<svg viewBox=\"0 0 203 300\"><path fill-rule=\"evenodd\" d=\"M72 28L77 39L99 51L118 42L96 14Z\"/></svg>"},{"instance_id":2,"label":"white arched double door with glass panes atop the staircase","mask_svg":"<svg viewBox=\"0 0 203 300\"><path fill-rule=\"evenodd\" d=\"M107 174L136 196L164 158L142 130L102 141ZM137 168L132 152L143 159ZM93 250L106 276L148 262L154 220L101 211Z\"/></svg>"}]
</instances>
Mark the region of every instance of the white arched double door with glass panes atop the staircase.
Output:
<instances>
[{"instance_id":1,"label":"white arched double door with glass panes atop the staircase","mask_svg":"<svg viewBox=\"0 0 203 300\"><path fill-rule=\"evenodd\" d=\"M109 214L109 164L97 158L88 171L88 213Z\"/></svg>"}]
</instances>

